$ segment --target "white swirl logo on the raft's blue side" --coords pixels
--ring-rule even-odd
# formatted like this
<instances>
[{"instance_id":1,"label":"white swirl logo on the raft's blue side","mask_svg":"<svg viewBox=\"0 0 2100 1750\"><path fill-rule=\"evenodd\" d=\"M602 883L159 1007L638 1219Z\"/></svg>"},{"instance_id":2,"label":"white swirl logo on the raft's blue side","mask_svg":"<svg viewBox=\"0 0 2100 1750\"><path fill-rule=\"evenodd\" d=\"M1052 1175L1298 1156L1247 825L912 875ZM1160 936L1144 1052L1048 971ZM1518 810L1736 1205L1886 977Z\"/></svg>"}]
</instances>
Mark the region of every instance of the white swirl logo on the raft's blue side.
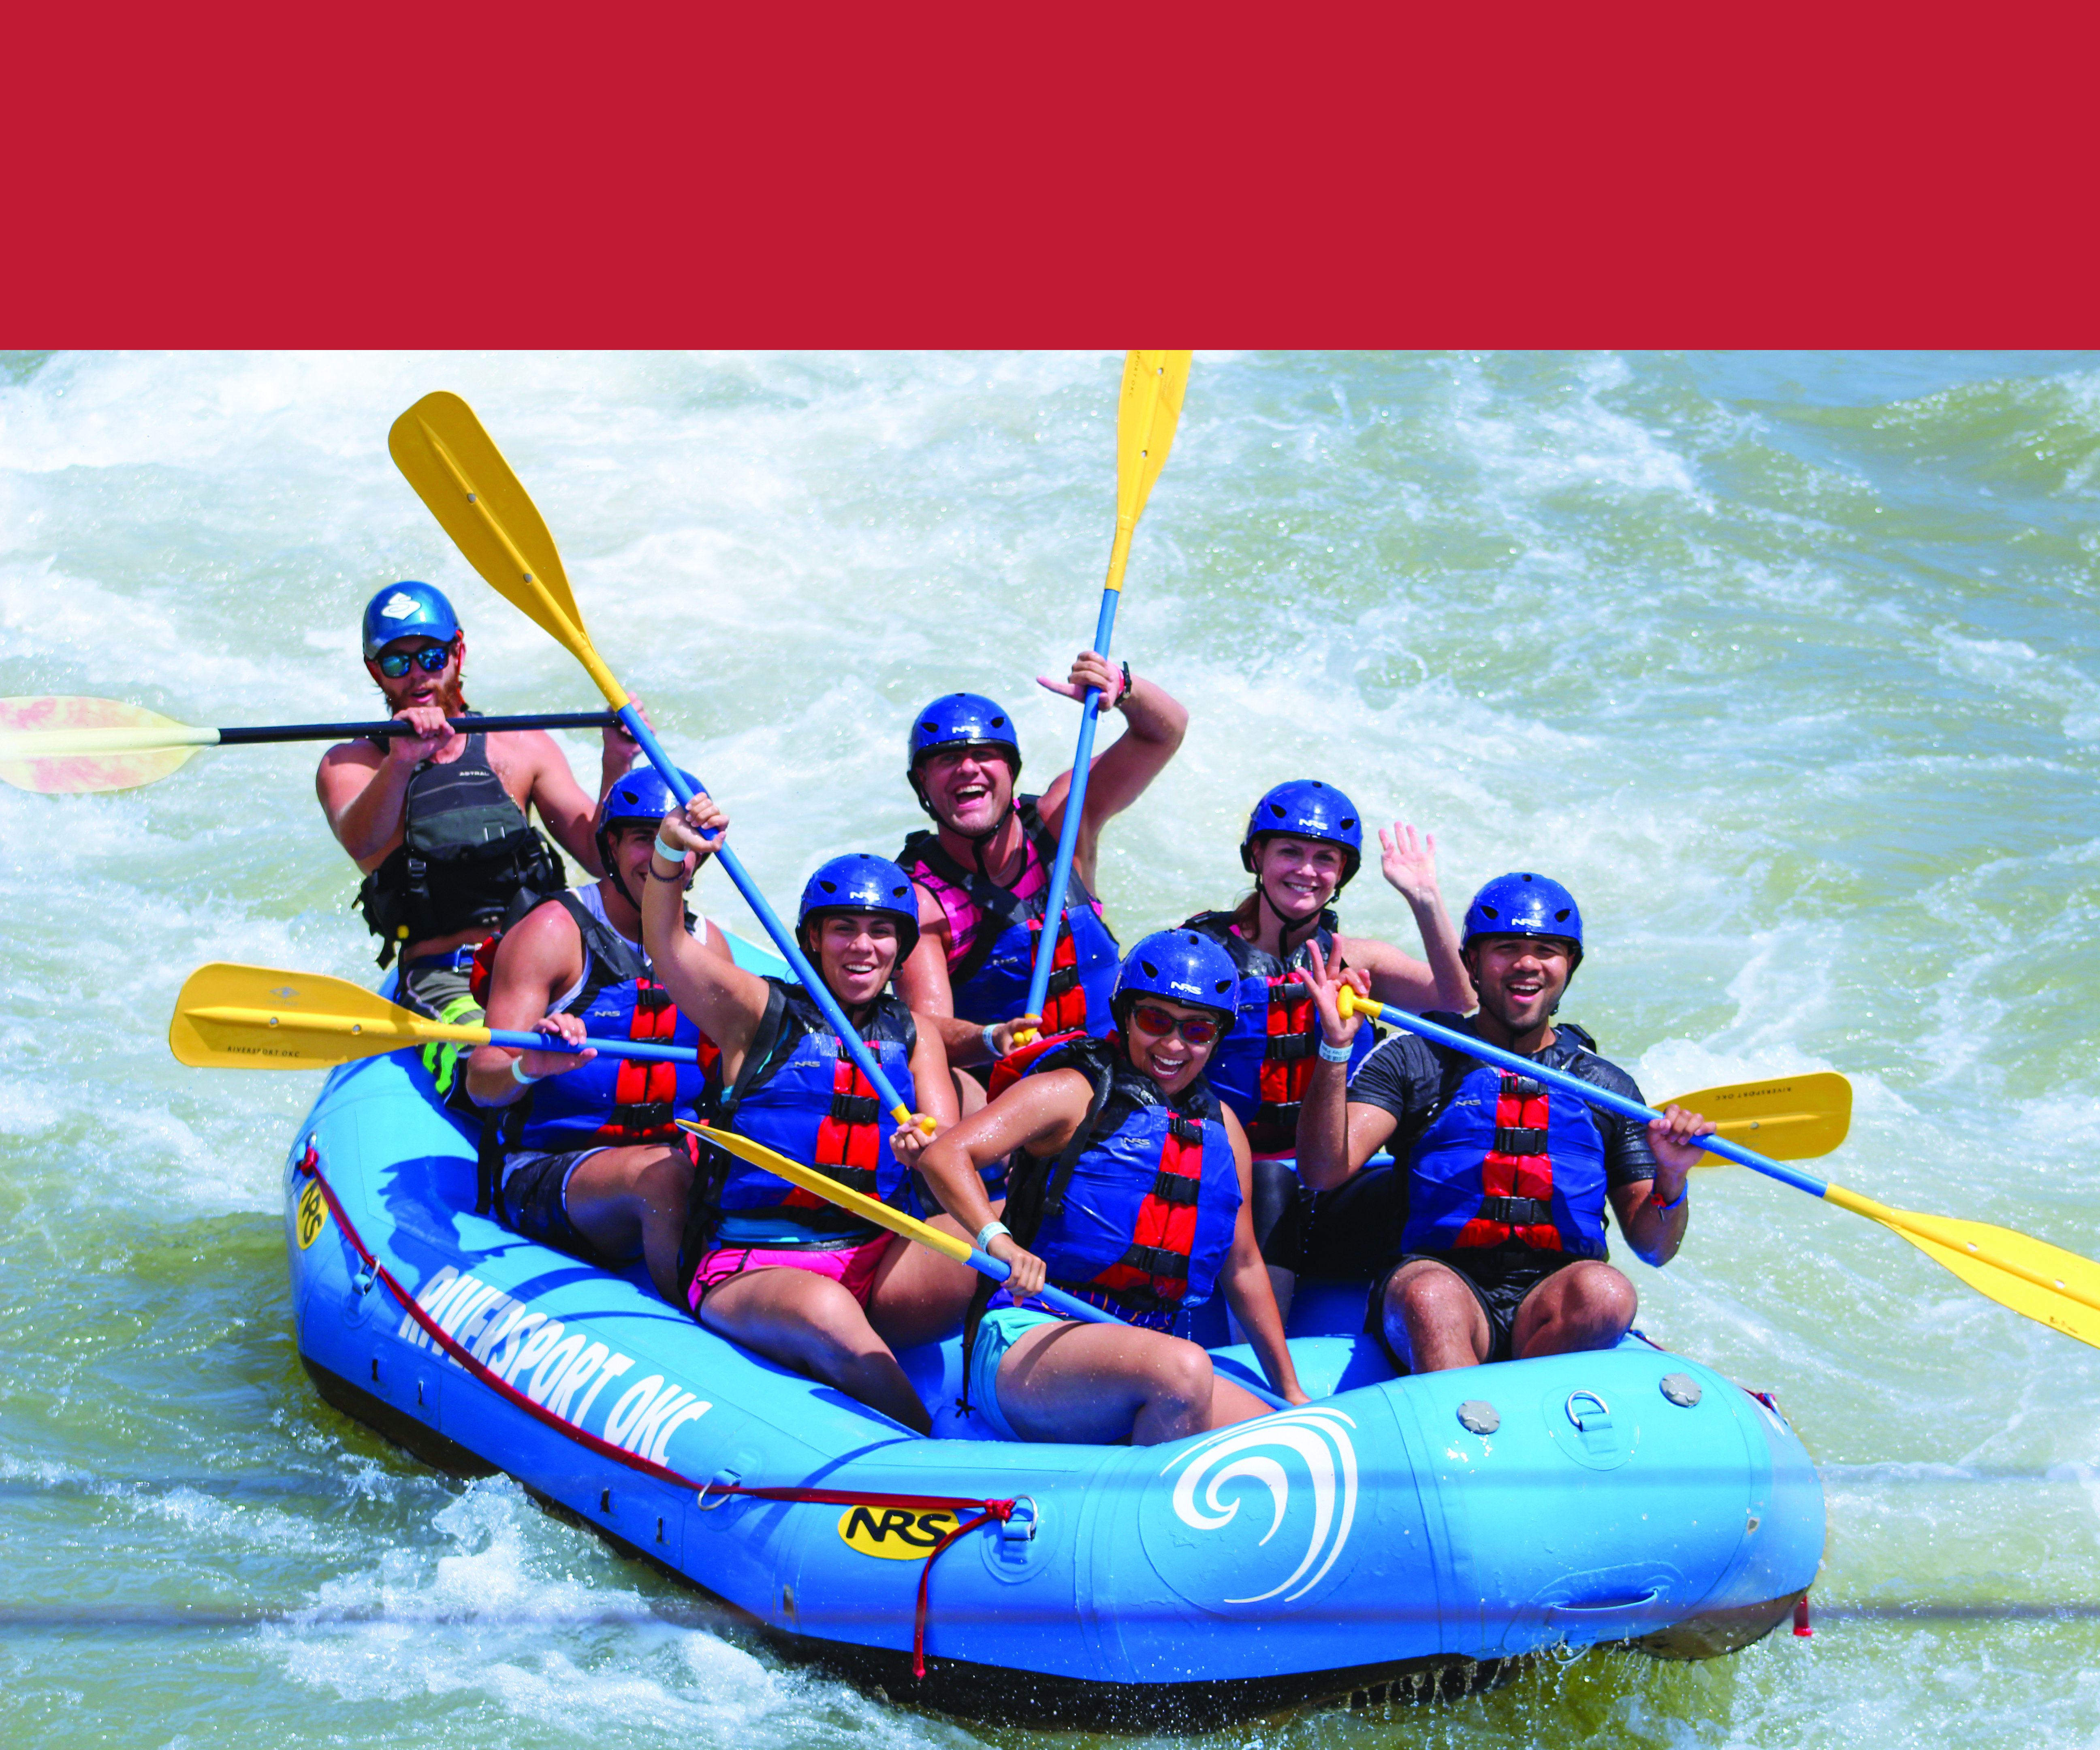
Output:
<instances>
[{"instance_id":1,"label":"white swirl logo on the raft's blue side","mask_svg":"<svg viewBox=\"0 0 2100 1750\"><path fill-rule=\"evenodd\" d=\"M1205 1609L1243 1609L1273 1599L1289 1605L1310 1595L1336 1571L1357 1523L1354 1426L1340 1410L1283 1410L1220 1429L1170 1458L1159 1475L1180 1475L1168 1511L1157 1511L1155 1496L1140 1519L1159 1576ZM1300 1473L1302 1487L1294 1492ZM1256 1508L1241 1517L1241 1506L1256 1487L1268 1492L1268 1523L1250 1542L1264 1515ZM1237 1534L1228 1532L1235 1525ZM1287 1571L1275 1584L1241 1590L1254 1576L1256 1586L1268 1578L1264 1563Z\"/></svg>"}]
</instances>

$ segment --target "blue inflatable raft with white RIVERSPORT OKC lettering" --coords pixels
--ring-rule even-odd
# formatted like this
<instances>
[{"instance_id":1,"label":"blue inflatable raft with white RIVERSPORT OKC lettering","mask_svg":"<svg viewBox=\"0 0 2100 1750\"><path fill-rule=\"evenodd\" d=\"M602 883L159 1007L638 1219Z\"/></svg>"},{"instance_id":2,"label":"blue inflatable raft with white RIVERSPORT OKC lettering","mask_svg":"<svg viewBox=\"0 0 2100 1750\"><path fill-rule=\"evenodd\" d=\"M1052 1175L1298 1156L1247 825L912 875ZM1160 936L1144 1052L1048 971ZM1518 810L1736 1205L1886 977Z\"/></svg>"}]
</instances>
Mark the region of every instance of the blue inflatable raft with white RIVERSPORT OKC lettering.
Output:
<instances>
[{"instance_id":1,"label":"blue inflatable raft with white RIVERSPORT OKC lettering","mask_svg":"<svg viewBox=\"0 0 2100 1750\"><path fill-rule=\"evenodd\" d=\"M1640 1338L1396 1380L1352 1334L1361 1288L1306 1292L1319 1401L1157 1447L981 1439L949 1338L901 1357L939 1405L922 1439L472 1206L472 1143L414 1053L330 1076L286 1162L321 1395L897 1700L1208 1725L1451 1693L1554 1647L1707 1658L1785 1620L1823 1553L1777 1405Z\"/></svg>"}]
</instances>

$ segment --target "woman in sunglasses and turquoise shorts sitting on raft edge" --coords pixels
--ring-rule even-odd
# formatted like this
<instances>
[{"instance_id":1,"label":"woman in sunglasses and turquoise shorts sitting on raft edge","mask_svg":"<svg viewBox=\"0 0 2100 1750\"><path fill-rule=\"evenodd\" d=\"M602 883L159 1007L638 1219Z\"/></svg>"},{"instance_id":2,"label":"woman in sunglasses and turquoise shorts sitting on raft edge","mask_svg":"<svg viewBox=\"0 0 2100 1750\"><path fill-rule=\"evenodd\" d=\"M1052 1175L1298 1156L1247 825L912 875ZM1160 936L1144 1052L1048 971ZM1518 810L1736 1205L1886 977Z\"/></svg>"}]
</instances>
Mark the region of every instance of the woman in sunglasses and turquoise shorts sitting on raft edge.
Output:
<instances>
[{"instance_id":1,"label":"woman in sunglasses and turquoise shorts sitting on raft edge","mask_svg":"<svg viewBox=\"0 0 2100 1750\"><path fill-rule=\"evenodd\" d=\"M1216 1288L1268 1382L1306 1401L1247 1218L1247 1137L1203 1082L1237 983L1214 941L1144 937L1115 985L1117 1032L1054 1044L920 1155L943 1206L1012 1271L981 1286L964 1326L966 1405L1002 1439L1155 1445L1266 1414L1172 1334ZM1000 1155L1006 1221L979 1176ZM1044 1311L1029 1296L1046 1282L1124 1324Z\"/></svg>"}]
</instances>

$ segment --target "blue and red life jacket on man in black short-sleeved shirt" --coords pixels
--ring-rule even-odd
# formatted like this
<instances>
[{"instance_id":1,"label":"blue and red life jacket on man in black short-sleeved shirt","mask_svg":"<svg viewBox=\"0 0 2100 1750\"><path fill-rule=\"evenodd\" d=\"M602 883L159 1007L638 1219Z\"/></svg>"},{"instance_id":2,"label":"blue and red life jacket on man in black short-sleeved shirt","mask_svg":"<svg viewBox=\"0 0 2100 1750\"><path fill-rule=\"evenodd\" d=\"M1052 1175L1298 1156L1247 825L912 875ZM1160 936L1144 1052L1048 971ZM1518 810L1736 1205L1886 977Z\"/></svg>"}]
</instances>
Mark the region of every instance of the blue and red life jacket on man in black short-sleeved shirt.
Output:
<instances>
[{"instance_id":1,"label":"blue and red life jacket on man in black short-sleeved shirt","mask_svg":"<svg viewBox=\"0 0 2100 1750\"><path fill-rule=\"evenodd\" d=\"M1455 1015L1434 1019L1460 1023ZM1590 1048L1579 1029L1554 1025ZM1602 1258L1604 1137L1590 1105L1531 1076L1430 1048L1445 1078L1407 1155L1401 1250L1470 1252L1516 1244Z\"/></svg>"}]
</instances>

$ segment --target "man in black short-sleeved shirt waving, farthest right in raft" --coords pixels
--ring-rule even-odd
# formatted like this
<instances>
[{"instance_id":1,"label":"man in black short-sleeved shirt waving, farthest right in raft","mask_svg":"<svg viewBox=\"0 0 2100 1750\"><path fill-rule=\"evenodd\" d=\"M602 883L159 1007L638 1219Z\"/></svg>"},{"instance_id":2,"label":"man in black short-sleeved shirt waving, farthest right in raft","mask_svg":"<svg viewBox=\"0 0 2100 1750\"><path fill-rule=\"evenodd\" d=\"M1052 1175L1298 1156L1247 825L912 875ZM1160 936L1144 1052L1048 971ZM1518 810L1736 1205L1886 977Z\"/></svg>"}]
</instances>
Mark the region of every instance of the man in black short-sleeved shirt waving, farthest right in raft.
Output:
<instances>
[{"instance_id":1,"label":"man in black short-sleeved shirt waving, farthest right in raft","mask_svg":"<svg viewBox=\"0 0 2100 1750\"><path fill-rule=\"evenodd\" d=\"M1634 1078L1554 1011L1581 964L1581 912L1556 880L1516 870L1466 908L1470 1017L1434 1015L1485 1044L1640 1099ZM1363 1017L1315 945L1304 983L1321 1017L1319 1067L1298 1118L1308 1200L1302 1250L1270 1263L1312 1275L1359 1258L1365 1330L1401 1372L1611 1349L1634 1324L1634 1284L1604 1261L1604 1208L1651 1265L1684 1244L1686 1174L1714 1124L1672 1105L1638 1124L1415 1034L1348 1074ZM1346 1076L1346 1086L1344 1086ZM1396 1166L1367 1168L1392 1147ZM1378 1256L1369 1269L1365 1254Z\"/></svg>"}]
</instances>

